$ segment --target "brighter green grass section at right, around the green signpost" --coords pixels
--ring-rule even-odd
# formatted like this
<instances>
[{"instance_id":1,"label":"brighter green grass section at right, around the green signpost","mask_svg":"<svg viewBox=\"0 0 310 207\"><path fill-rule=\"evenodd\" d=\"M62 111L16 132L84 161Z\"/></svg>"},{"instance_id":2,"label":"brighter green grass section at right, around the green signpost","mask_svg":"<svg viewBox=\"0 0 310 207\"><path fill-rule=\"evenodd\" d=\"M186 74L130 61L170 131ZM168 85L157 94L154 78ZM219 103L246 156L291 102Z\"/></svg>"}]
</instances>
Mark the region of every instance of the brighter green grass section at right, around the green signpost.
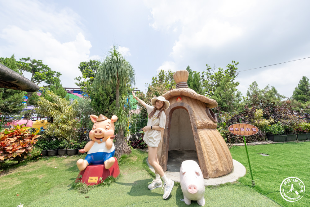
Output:
<instances>
[{"instance_id":1,"label":"brighter green grass section at right, around the green signpost","mask_svg":"<svg viewBox=\"0 0 310 207\"><path fill-rule=\"evenodd\" d=\"M310 142L288 142L247 146L255 181L254 189L282 206L308 206L310 203ZM244 146L230 149L232 158L246 167L246 176L239 179L251 186L251 175ZM262 156L259 153L268 154ZM281 197L280 185L285 178L297 177L305 185L303 198L288 202Z\"/></svg>"}]
</instances>

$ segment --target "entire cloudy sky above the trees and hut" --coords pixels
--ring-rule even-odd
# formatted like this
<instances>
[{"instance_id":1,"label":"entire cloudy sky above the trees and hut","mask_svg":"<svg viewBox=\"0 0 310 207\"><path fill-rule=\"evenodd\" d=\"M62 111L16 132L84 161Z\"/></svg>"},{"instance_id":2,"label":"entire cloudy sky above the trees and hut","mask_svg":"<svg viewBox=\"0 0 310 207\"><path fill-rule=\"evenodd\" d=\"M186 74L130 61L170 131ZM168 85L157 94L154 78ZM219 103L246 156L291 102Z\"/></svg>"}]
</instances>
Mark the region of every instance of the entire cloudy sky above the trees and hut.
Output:
<instances>
[{"instance_id":1,"label":"entire cloudy sky above the trees and hut","mask_svg":"<svg viewBox=\"0 0 310 207\"><path fill-rule=\"evenodd\" d=\"M0 57L42 60L65 88L78 87L80 62L103 61L113 44L143 92L160 70L201 73L232 61L243 96L256 81L291 97L310 78L308 0L0 0L0 8Z\"/></svg>"}]
</instances>

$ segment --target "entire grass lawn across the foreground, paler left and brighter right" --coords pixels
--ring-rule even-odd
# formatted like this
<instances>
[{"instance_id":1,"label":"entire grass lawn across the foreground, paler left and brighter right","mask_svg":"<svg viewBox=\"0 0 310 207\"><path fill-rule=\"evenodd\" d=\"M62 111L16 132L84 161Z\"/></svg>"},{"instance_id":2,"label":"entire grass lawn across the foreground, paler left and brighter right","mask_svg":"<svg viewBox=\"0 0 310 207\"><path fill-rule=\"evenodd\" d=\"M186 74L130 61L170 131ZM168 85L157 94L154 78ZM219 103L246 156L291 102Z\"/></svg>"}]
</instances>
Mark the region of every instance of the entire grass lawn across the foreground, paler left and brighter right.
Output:
<instances>
[{"instance_id":1,"label":"entire grass lawn across the foreground, paler left and brighter right","mask_svg":"<svg viewBox=\"0 0 310 207\"><path fill-rule=\"evenodd\" d=\"M310 142L248 146L255 187L250 187L245 148L232 147L232 157L246 167L246 176L233 184L206 187L205 206L307 206L309 147ZM86 188L89 191L81 194L72 185L79 173L76 161L83 156L49 157L5 168L0 172L0 206L188 206L180 200L179 183L166 200L161 188L147 189L154 174L147 167L147 153L139 150L119 160L121 175L115 182ZM296 202L285 201L279 192L281 182L291 176L301 179L306 187L305 195ZM199 205L192 201L191 206Z\"/></svg>"}]
</instances>

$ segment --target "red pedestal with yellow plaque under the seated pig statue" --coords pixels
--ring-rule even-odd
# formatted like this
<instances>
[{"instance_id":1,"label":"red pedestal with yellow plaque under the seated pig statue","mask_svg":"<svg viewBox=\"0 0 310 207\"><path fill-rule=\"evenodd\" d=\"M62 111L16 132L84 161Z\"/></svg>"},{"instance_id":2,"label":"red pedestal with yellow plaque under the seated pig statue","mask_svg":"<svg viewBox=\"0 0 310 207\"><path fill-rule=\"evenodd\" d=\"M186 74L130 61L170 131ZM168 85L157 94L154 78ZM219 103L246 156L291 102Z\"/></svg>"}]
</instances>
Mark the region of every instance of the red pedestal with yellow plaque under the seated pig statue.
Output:
<instances>
[{"instance_id":1,"label":"red pedestal with yellow plaque under the seated pig statue","mask_svg":"<svg viewBox=\"0 0 310 207\"><path fill-rule=\"evenodd\" d=\"M80 171L75 182L82 182L86 185L95 185L103 182L108 176L116 178L120 171L116 157L115 162L109 169L104 168L104 164L90 164L85 170ZM81 178L82 175L82 178Z\"/></svg>"}]
</instances>

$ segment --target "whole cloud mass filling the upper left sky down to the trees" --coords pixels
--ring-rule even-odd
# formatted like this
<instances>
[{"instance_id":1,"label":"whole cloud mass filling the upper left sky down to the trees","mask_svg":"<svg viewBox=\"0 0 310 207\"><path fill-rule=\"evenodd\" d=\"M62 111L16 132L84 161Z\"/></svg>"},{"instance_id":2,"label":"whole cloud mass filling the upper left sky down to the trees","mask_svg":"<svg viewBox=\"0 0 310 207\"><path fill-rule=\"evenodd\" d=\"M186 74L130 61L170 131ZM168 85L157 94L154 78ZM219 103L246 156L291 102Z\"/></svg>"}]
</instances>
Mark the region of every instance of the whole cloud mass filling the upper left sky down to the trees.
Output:
<instances>
[{"instance_id":1,"label":"whole cloud mass filling the upper left sky down to the trees","mask_svg":"<svg viewBox=\"0 0 310 207\"><path fill-rule=\"evenodd\" d=\"M4 12L0 18L14 15L6 18L0 30L0 56L14 53L16 59L42 60L62 74L63 87L77 87L74 78L81 75L78 65L90 59L91 48L90 41L82 34L80 17L69 8L59 10L38 1L9 1L2 6Z\"/></svg>"}]
</instances>

